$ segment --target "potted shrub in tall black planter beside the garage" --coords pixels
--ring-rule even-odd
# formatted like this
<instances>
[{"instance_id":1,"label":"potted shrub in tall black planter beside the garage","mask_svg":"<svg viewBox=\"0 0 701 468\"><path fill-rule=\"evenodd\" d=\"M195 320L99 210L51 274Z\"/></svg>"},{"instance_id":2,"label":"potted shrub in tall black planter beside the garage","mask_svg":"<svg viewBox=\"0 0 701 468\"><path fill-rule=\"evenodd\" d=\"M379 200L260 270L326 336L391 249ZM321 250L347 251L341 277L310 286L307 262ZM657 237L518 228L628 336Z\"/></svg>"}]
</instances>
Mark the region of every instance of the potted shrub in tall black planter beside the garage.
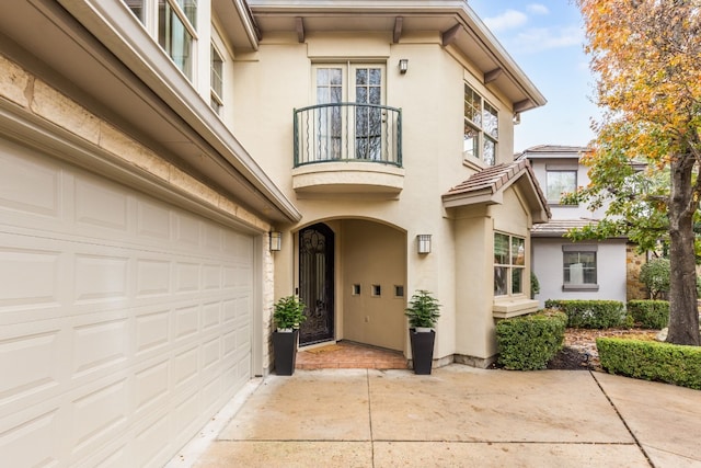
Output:
<instances>
[{"instance_id":1,"label":"potted shrub in tall black planter beside the garage","mask_svg":"<svg viewBox=\"0 0 701 468\"><path fill-rule=\"evenodd\" d=\"M304 307L304 303L297 296L281 297L274 305L273 321L276 330L273 332L273 355L277 375L295 373L299 324L307 319Z\"/></svg>"}]
</instances>

